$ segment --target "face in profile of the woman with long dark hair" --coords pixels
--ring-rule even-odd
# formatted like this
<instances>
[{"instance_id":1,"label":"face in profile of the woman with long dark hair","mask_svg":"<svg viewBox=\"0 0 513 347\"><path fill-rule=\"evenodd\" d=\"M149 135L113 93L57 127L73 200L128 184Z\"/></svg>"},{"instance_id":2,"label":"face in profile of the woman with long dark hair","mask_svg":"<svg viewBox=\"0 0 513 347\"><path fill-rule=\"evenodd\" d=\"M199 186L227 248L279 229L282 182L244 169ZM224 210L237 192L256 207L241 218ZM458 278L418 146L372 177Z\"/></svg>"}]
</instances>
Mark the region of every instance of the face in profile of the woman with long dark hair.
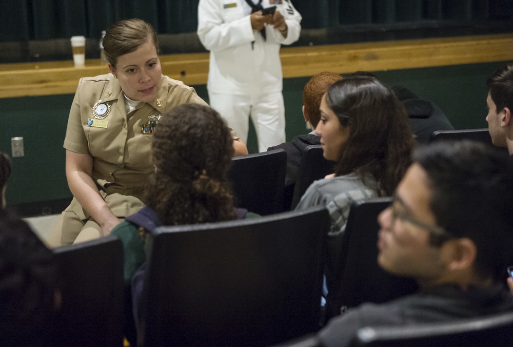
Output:
<instances>
[{"instance_id":1,"label":"face in profile of the woman with long dark hair","mask_svg":"<svg viewBox=\"0 0 513 347\"><path fill-rule=\"evenodd\" d=\"M326 160L336 161L340 157L342 145L349 138L349 126L343 126L337 115L328 107L326 94L321 100L321 120L315 133L321 137L323 156Z\"/></svg>"}]
</instances>

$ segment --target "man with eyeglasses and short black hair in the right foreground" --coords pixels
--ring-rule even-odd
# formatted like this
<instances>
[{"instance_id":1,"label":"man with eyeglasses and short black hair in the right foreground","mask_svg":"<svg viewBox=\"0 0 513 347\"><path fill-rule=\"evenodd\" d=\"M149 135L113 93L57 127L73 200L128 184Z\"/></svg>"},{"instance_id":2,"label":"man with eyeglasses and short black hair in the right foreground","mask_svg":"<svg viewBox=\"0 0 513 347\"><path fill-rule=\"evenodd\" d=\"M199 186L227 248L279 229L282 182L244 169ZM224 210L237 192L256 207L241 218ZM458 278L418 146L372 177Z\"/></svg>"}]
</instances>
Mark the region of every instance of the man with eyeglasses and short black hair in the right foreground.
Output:
<instances>
[{"instance_id":1,"label":"man with eyeglasses and short black hair in the right foreground","mask_svg":"<svg viewBox=\"0 0 513 347\"><path fill-rule=\"evenodd\" d=\"M393 203L378 217L378 262L415 279L417 294L366 303L318 334L348 345L364 326L407 326L513 310L504 285L513 265L513 169L485 144L439 142L416 150Z\"/></svg>"}]
</instances>

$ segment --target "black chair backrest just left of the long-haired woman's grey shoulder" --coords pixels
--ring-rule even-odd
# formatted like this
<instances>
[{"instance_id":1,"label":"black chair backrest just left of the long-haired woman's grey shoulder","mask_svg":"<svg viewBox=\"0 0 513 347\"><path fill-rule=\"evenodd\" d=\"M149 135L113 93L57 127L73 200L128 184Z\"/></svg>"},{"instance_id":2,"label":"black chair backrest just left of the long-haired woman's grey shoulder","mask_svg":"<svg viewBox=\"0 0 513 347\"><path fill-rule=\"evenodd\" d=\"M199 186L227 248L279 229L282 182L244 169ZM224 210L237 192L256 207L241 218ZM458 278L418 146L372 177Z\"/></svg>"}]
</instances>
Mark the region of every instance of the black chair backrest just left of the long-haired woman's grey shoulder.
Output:
<instances>
[{"instance_id":1,"label":"black chair backrest just left of the long-haired woman's grey shoulder","mask_svg":"<svg viewBox=\"0 0 513 347\"><path fill-rule=\"evenodd\" d=\"M298 205L301 197L313 181L320 180L333 173L334 164L335 162L323 157L321 145L309 145L305 148L299 164L298 178L295 181L290 209L294 209Z\"/></svg>"}]
</instances>

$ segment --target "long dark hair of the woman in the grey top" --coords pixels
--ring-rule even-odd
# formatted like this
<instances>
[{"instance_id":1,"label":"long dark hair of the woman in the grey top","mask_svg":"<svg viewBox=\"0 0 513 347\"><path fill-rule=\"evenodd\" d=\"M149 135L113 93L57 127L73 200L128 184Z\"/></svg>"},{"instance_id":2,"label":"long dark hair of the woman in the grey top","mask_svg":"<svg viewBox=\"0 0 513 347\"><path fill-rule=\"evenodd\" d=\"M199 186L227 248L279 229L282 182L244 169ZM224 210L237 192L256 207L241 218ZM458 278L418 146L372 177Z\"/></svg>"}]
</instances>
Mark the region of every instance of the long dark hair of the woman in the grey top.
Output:
<instances>
[{"instance_id":1,"label":"long dark hair of the woman in the grey top","mask_svg":"<svg viewBox=\"0 0 513 347\"><path fill-rule=\"evenodd\" d=\"M413 139L406 110L396 95L372 76L354 76L333 83L326 93L328 107L349 138L342 145L335 175L370 173L379 194L392 195L411 163Z\"/></svg>"}]
</instances>

